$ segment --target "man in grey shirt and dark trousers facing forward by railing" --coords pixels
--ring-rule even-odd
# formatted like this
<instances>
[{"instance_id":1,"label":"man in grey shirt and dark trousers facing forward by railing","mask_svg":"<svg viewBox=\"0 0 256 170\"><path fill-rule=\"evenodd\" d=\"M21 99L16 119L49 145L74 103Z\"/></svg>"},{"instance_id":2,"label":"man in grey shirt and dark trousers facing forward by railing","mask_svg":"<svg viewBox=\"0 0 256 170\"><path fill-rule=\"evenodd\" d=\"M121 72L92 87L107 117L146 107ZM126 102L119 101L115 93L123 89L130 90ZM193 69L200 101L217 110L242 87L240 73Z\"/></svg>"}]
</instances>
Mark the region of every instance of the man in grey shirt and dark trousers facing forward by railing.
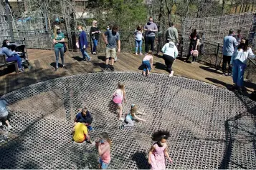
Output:
<instances>
[{"instance_id":1,"label":"man in grey shirt and dark trousers facing forward by railing","mask_svg":"<svg viewBox=\"0 0 256 170\"><path fill-rule=\"evenodd\" d=\"M146 35L145 39L145 51L146 53L149 51L148 45L151 44L151 51L153 51L153 45L155 42L156 32L158 31L158 28L155 23L153 23L153 18L149 17L149 21L144 26L144 31Z\"/></svg>"}]
</instances>

